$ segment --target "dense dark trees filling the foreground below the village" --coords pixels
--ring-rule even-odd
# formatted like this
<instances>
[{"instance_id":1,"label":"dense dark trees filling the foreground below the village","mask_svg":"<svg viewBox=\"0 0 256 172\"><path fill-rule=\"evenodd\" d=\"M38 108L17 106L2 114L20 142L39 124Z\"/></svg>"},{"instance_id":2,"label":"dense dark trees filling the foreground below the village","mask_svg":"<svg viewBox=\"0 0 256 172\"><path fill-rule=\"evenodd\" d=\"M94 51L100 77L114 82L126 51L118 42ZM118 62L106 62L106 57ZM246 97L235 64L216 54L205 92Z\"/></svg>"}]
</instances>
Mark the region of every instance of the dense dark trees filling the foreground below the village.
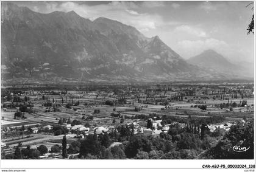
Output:
<instances>
[{"instance_id":1,"label":"dense dark trees filling the foreground below the village","mask_svg":"<svg viewBox=\"0 0 256 172\"><path fill-rule=\"evenodd\" d=\"M54 127L55 131L60 128ZM134 126L122 125L115 130L97 135L89 134L65 147L54 145L50 153L61 153L66 150L69 159L253 159L254 158L254 121L237 122L228 132L216 128L210 132L206 122L187 123L185 128L179 123L169 126L168 132L160 136L134 134ZM65 132L63 132L65 133ZM63 137L64 139L64 137ZM64 140L65 141L65 140ZM65 142L62 143L66 143ZM110 146L113 142L118 145ZM65 144L63 144L65 146ZM249 148L249 151L236 153L233 146ZM16 146L15 153L5 155L3 159L37 159L48 150L43 145L37 150L30 147ZM68 157L65 155L65 157Z\"/></svg>"}]
</instances>

